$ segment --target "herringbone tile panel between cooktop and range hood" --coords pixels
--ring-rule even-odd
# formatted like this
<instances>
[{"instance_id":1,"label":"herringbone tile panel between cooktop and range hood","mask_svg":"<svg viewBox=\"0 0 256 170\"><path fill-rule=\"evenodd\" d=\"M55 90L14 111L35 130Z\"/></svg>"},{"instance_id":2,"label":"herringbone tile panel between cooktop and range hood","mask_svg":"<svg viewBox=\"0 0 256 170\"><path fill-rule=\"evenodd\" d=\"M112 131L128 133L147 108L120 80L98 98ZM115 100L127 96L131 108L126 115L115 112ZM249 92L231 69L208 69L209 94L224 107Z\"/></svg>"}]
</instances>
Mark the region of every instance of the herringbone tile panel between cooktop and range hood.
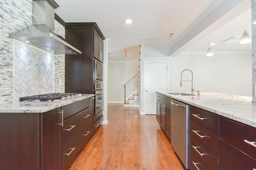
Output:
<instances>
[{"instance_id":1,"label":"herringbone tile panel between cooktop and range hood","mask_svg":"<svg viewBox=\"0 0 256 170\"><path fill-rule=\"evenodd\" d=\"M54 54L14 43L14 102L23 96L54 92Z\"/></svg>"}]
</instances>

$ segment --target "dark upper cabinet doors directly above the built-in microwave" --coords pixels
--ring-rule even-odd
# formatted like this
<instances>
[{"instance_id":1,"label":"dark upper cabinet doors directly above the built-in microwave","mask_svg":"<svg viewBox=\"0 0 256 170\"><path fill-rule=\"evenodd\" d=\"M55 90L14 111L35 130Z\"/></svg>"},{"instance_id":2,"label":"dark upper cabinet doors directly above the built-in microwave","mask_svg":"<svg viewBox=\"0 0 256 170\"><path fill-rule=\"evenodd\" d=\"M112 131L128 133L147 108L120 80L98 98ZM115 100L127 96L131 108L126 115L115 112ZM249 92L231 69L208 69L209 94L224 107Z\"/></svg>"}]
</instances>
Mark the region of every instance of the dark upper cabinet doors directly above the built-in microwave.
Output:
<instances>
[{"instance_id":1,"label":"dark upper cabinet doors directly above the built-in microwave","mask_svg":"<svg viewBox=\"0 0 256 170\"><path fill-rule=\"evenodd\" d=\"M103 40L94 30L93 57L103 63Z\"/></svg>"}]
</instances>

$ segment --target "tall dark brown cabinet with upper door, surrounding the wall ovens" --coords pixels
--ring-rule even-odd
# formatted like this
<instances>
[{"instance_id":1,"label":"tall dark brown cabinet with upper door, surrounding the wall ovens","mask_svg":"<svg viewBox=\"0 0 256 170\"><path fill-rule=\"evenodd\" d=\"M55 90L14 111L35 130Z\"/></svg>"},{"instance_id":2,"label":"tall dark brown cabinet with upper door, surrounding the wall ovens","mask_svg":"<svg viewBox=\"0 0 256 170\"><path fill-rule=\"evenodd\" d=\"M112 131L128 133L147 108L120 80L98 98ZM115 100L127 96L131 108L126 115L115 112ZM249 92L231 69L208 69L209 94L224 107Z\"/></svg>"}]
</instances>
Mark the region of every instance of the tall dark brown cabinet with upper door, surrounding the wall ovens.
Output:
<instances>
[{"instance_id":1,"label":"tall dark brown cabinet with upper door, surrounding the wall ovens","mask_svg":"<svg viewBox=\"0 0 256 170\"><path fill-rule=\"evenodd\" d=\"M65 39L81 55L65 55L65 92L93 94L93 59L103 62L104 35L96 23L66 23Z\"/></svg>"}]
</instances>

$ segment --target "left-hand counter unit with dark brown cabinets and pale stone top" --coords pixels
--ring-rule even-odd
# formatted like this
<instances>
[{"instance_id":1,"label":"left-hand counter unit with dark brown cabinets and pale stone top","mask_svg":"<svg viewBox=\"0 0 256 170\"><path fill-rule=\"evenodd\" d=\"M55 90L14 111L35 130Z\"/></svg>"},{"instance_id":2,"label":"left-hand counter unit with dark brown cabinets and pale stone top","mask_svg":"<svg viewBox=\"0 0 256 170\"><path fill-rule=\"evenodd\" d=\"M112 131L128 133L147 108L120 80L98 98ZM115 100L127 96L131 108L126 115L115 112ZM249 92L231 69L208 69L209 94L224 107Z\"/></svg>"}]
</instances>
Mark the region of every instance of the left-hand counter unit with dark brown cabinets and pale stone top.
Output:
<instances>
[{"instance_id":1,"label":"left-hand counter unit with dark brown cabinets and pale stone top","mask_svg":"<svg viewBox=\"0 0 256 170\"><path fill-rule=\"evenodd\" d=\"M0 105L0 170L66 170L95 133L94 94Z\"/></svg>"}]
</instances>

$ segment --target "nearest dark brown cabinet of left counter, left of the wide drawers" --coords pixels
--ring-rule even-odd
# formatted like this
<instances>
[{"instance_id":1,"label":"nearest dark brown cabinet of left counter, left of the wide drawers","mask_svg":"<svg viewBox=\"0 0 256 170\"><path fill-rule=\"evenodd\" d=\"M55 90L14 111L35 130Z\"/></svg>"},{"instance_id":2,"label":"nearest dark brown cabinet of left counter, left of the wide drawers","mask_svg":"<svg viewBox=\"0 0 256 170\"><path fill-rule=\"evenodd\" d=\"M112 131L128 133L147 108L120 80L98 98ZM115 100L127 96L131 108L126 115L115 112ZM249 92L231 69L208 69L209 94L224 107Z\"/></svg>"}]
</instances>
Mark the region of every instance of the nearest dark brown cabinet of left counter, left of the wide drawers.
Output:
<instances>
[{"instance_id":1,"label":"nearest dark brown cabinet of left counter, left of the wide drawers","mask_svg":"<svg viewBox=\"0 0 256 170\"><path fill-rule=\"evenodd\" d=\"M0 169L61 170L61 115L0 113Z\"/></svg>"}]
</instances>

